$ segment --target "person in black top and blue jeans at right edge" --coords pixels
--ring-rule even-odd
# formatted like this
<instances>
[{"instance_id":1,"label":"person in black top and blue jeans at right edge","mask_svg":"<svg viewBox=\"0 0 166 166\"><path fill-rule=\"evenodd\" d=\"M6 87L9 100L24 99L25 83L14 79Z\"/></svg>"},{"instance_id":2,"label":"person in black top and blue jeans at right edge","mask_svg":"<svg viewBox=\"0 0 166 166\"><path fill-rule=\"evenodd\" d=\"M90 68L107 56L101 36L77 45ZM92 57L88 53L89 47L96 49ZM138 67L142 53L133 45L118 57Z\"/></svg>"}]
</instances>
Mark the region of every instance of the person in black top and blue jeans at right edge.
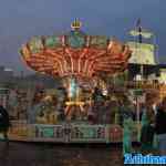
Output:
<instances>
[{"instance_id":1,"label":"person in black top and blue jeans at right edge","mask_svg":"<svg viewBox=\"0 0 166 166\"><path fill-rule=\"evenodd\" d=\"M155 132L157 134L159 153L160 155L166 155L166 97L157 110Z\"/></svg>"}]
</instances>

